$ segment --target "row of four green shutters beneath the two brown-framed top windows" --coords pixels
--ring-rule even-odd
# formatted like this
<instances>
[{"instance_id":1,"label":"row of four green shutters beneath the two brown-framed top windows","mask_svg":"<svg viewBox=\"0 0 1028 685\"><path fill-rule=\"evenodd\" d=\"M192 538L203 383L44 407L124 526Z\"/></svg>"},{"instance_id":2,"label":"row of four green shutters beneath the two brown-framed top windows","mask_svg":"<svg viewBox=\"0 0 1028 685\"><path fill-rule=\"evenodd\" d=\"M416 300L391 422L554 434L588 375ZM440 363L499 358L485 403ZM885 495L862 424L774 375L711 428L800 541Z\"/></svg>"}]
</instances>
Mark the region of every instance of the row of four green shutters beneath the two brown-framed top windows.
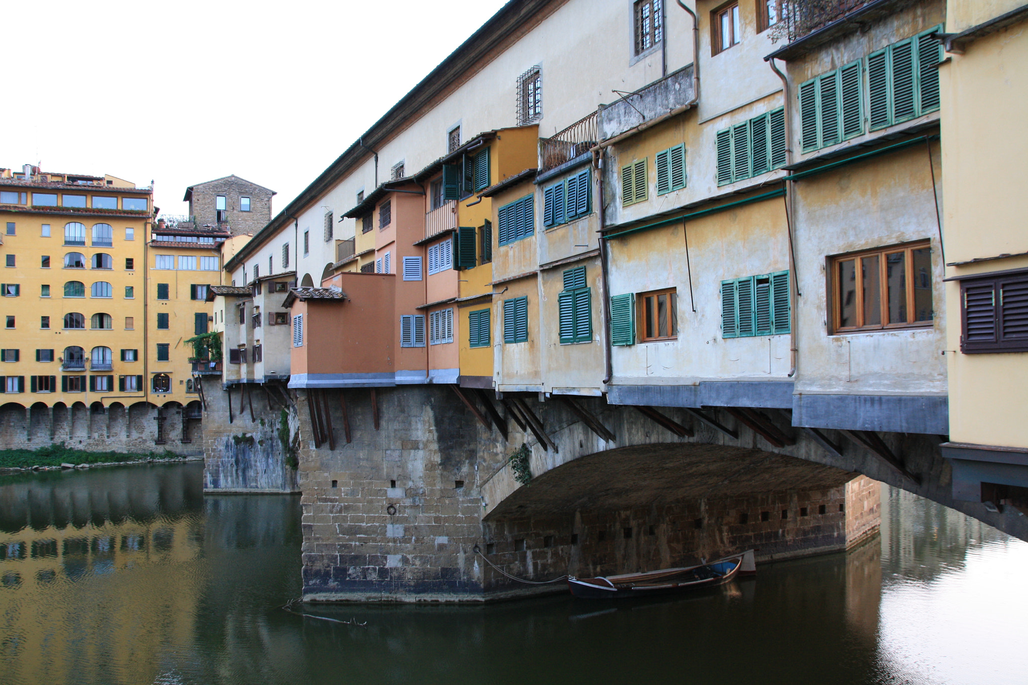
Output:
<instances>
[{"instance_id":1,"label":"row of four green shutters beneath the two brown-framed top windows","mask_svg":"<svg viewBox=\"0 0 1028 685\"><path fill-rule=\"evenodd\" d=\"M766 174L785 164L782 108L723 128L717 134L718 185Z\"/></svg>"}]
</instances>

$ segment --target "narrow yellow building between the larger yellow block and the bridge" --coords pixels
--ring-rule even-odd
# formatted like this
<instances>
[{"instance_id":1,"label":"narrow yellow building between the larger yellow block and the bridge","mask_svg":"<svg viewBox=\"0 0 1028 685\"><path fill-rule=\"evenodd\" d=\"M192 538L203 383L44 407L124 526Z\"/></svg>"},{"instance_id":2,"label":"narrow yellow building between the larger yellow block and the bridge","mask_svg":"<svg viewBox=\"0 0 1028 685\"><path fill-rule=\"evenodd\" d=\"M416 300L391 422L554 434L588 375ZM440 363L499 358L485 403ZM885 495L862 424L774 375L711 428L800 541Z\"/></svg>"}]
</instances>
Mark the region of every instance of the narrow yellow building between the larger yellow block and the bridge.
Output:
<instances>
[{"instance_id":1,"label":"narrow yellow building between the larger yellow block and the bridge","mask_svg":"<svg viewBox=\"0 0 1028 685\"><path fill-rule=\"evenodd\" d=\"M240 236L241 238L244 236ZM159 220L147 261L148 391L152 402L186 405L199 398L193 373L207 370L190 338L213 331L208 289L221 284L221 245L226 226Z\"/></svg>"}]
</instances>

